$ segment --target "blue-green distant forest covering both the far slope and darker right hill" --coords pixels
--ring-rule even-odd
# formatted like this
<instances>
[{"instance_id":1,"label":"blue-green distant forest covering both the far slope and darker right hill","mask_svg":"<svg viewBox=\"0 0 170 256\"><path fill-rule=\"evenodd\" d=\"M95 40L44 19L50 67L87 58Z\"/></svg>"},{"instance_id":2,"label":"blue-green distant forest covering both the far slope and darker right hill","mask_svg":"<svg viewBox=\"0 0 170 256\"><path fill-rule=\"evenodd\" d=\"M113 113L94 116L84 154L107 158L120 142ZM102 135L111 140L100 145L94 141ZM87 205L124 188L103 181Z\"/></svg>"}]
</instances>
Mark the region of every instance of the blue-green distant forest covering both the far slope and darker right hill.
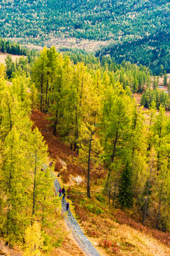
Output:
<instances>
[{"instance_id":1,"label":"blue-green distant forest covering both the far slope and darker right hill","mask_svg":"<svg viewBox=\"0 0 170 256\"><path fill-rule=\"evenodd\" d=\"M0 4L0 36L21 43L57 46L57 38L107 41L97 55L111 54L169 72L169 1L23 1ZM12 29L11 29L12 28Z\"/></svg>"}]
</instances>

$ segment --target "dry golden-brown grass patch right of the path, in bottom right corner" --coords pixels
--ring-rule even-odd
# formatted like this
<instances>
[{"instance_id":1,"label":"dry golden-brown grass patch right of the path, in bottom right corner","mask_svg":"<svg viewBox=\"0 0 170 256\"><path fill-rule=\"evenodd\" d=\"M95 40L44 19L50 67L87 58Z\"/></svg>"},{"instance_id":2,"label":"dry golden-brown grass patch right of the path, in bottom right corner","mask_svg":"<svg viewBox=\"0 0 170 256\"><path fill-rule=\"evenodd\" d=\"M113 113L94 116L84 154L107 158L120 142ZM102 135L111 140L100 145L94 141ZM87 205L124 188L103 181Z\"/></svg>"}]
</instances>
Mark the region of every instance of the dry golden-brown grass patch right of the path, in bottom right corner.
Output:
<instances>
[{"instance_id":1,"label":"dry golden-brown grass patch right of the path, in bottom right corner","mask_svg":"<svg viewBox=\"0 0 170 256\"><path fill-rule=\"evenodd\" d=\"M81 200L79 198L77 202ZM96 209L104 210L104 213L89 212L91 204L95 205ZM95 198L90 200L84 198L83 203L75 203L75 209L86 235L96 243L97 250L98 247L102 247L106 255L170 255L170 234L144 227L132 220L128 213L108 208L106 205L102 206L101 203L96 202Z\"/></svg>"}]
</instances>

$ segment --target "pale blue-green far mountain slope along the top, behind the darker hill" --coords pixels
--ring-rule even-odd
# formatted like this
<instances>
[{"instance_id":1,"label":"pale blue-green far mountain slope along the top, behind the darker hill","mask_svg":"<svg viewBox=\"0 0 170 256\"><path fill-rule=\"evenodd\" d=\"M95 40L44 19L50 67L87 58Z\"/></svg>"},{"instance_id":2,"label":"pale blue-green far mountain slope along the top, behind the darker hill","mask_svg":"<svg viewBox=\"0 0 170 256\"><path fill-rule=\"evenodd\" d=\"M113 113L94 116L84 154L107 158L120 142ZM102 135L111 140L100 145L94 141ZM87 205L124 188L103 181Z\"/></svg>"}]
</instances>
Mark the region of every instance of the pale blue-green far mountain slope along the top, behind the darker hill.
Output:
<instances>
[{"instance_id":1,"label":"pale blue-green far mountain slope along the top, behind the darker hill","mask_svg":"<svg viewBox=\"0 0 170 256\"><path fill-rule=\"evenodd\" d=\"M168 29L169 9L165 0L8 0L1 3L1 36L125 40Z\"/></svg>"}]
</instances>

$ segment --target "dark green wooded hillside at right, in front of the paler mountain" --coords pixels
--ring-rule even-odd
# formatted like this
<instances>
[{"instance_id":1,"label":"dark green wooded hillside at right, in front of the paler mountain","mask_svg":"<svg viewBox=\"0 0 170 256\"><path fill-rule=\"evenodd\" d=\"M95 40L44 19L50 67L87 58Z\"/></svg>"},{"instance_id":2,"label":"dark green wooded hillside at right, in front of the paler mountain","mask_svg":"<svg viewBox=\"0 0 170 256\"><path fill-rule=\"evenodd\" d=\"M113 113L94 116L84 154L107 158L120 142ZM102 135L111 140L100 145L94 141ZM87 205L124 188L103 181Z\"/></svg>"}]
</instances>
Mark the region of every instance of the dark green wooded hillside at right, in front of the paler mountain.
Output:
<instances>
[{"instance_id":1,"label":"dark green wooded hillside at right, in front of the paler mountain","mask_svg":"<svg viewBox=\"0 0 170 256\"><path fill-rule=\"evenodd\" d=\"M170 32L157 32L156 35L107 46L96 53L97 57L111 55L115 63L123 60L149 67L152 73L159 75L164 69L170 73Z\"/></svg>"}]
</instances>

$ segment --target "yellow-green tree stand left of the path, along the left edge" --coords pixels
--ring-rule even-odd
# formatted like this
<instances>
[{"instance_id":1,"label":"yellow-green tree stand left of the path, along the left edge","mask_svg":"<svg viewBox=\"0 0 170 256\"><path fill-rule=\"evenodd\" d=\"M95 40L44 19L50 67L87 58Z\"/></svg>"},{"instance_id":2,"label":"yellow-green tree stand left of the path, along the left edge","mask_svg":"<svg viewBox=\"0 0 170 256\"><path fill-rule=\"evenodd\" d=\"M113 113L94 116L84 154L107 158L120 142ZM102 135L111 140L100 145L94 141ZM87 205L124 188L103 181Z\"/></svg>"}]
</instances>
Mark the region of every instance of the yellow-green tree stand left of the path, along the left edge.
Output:
<instances>
[{"instance_id":1,"label":"yellow-green tree stand left of the path, along the left edge","mask_svg":"<svg viewBox=\"0 0 170 256\"><path fill-rule=\"evenodd\" d=\"M37 239L38 255L40 247L50 250L60 241L54 225L60 201L53 193L51 170L41 170L47 146L30 121L35 87L24 76L16 75L12 85L5 76L0 65L0 233L6 245L22 245L26 255Z\"/></svg>"}]
</instances>

